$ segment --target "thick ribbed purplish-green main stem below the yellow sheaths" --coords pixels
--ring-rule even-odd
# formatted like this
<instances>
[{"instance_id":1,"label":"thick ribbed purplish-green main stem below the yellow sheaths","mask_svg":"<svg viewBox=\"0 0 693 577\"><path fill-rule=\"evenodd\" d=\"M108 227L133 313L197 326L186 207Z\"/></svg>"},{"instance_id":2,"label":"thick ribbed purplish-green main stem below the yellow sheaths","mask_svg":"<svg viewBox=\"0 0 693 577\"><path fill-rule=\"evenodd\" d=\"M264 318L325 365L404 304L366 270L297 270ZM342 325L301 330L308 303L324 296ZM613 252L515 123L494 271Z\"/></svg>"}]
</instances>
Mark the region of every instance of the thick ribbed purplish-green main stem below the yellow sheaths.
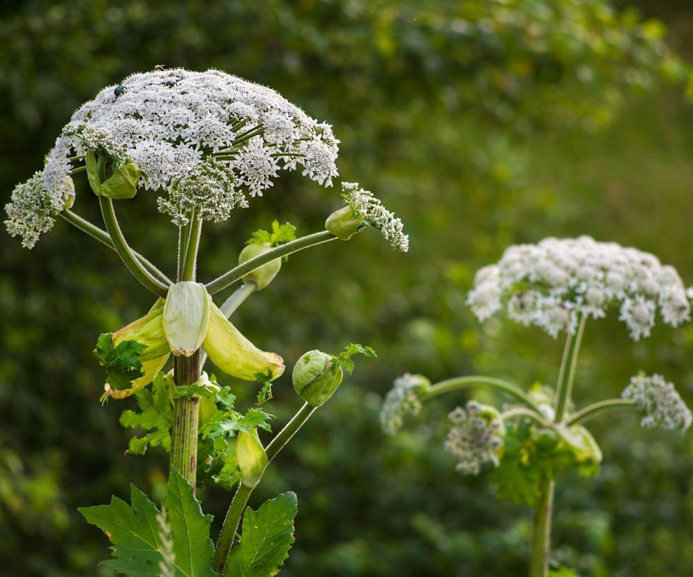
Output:
<instances>
[{"instance_id":1,"label":"thick ribbed purplish-green main stem below the yellow sheaths","mask_svg":"<svg viewBox=\"0 0 693 577\"><path fill-rule=\"evenodd\" d=\"M199 350L190 357L174 357L174 381L177 387L191 385L200 374ZM174 426L171 433L171 469L178 470L195 488L197 481L197 426L199 399L180 397L174 401Z\"/></svg>"}]
</instances>

